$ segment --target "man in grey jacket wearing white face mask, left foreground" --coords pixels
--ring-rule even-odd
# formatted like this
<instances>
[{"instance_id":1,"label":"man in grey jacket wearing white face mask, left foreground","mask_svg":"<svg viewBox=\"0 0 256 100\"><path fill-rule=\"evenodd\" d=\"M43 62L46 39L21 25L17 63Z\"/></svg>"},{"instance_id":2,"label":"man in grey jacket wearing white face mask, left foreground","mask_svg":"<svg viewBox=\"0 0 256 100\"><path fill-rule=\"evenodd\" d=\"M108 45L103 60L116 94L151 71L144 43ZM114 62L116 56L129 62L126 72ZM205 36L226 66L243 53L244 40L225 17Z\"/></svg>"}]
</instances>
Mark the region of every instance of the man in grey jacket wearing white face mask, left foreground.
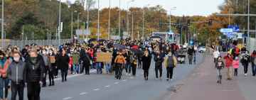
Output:
<instances>
[{"instance_id":1,"label":"man in grey jacket wearing white face mask, left foreground","mask_svg":"<svg viewBox=\"0 0 256 100\"><path fill-rule=\"evenodd\" d=\"M11 62L7 70L7 76L11 79L11 100L18 99L23 100L23 92L25 87L25 62L21 61L21 55L19 52L13 52L14 61Z\"/></svg>"}]
</instances>

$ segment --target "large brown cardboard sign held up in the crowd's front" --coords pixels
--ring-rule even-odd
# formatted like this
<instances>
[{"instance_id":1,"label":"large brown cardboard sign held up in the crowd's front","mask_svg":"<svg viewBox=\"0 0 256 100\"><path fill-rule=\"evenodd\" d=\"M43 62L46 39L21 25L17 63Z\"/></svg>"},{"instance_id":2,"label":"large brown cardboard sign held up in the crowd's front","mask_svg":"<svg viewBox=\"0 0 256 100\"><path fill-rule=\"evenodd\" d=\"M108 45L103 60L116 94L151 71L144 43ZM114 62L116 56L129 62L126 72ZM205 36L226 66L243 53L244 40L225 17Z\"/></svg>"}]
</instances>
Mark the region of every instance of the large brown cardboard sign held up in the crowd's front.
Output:
<instances>
[{"instance_id":1,"label":"large brown cardboard sign held up in the crowd's front","mask_svg":"<svg viewBox=\"0 0 256 100\"><path fill-rule=\"evenodd\" d=\"M111 52L97 52L97 62L111 62L112 53Z\"/></svg>"}]
</instances>

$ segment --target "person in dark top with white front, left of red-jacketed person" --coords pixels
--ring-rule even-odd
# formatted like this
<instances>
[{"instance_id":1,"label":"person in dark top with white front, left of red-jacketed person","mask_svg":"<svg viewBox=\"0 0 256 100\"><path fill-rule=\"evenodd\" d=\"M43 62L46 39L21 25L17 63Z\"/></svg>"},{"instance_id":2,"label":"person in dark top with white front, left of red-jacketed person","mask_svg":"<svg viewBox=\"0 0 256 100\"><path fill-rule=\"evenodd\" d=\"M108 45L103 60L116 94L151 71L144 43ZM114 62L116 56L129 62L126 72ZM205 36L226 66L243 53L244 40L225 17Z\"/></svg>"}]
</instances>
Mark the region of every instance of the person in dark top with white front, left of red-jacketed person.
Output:
<instances>
[{"instance_id":1,"label":"person in dark top with white front, left of red-jacketed person","mask_svg":"<svg viewBox=\"0 0 256 100\"><path fill-rule=\"evenodd\" d=\"M217 69L217 83L221 84L221 79L222 79L222 75L221 75L221 70L224 68L225 64L223 62L223 59L221 58L221 56L218 57L215 67Z\"/></svg>"}]
</instances>

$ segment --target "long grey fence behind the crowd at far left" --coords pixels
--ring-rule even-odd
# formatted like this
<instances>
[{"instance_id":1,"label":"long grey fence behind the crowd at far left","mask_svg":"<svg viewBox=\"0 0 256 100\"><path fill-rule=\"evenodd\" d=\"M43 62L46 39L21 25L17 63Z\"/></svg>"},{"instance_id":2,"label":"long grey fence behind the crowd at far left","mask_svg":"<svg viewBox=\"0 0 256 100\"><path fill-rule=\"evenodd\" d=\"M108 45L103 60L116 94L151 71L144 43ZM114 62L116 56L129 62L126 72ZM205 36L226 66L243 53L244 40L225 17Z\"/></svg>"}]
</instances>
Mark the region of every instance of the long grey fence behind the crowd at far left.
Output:
<instances>
[{"instance_id":1,"label":"long grey fence behind the crowd at far left","mask_svg":"<svg viewBox=\"0 0 256 100\"><path fill-rule=\"evenodd\" d=\"M62 39L60 40L60 44L65 42L71 42L70 39ZM0 40L1 43L1 40ZM4 40L4 48L8 45L17 45L19 48L23 48L25 45L31 45L32 43L36 43L36 45L53 45L58 46L58 40Z\"/></svg>"}]
</instances>

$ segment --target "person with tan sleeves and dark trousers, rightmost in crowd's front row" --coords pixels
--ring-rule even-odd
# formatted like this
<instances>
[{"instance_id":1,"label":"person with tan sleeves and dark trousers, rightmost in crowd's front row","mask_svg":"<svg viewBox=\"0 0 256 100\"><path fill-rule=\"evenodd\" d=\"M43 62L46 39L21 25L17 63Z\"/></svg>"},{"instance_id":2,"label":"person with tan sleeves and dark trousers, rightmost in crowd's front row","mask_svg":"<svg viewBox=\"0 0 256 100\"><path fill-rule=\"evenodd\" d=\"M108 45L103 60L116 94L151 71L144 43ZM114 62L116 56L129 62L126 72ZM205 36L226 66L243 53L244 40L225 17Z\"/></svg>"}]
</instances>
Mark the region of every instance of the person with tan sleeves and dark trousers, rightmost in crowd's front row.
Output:
<instances>
[{"instance_id":1,"label":"person with tan sleeves and dark trousers, rightmost in crowd's front row","mask_svg":"<svg viewBox=\"0 0 256 100\"><path fill-rule=\"evenodd\" d=\"M173 74L174 74L174 67L176 67L177 65L177 59L174 55L172 55L171 52L168 53L168 55L166 55L165 59L164 59L164 64L166 66L166 81L169 81L173 78Z\"/></svg>"}]
</instances>

